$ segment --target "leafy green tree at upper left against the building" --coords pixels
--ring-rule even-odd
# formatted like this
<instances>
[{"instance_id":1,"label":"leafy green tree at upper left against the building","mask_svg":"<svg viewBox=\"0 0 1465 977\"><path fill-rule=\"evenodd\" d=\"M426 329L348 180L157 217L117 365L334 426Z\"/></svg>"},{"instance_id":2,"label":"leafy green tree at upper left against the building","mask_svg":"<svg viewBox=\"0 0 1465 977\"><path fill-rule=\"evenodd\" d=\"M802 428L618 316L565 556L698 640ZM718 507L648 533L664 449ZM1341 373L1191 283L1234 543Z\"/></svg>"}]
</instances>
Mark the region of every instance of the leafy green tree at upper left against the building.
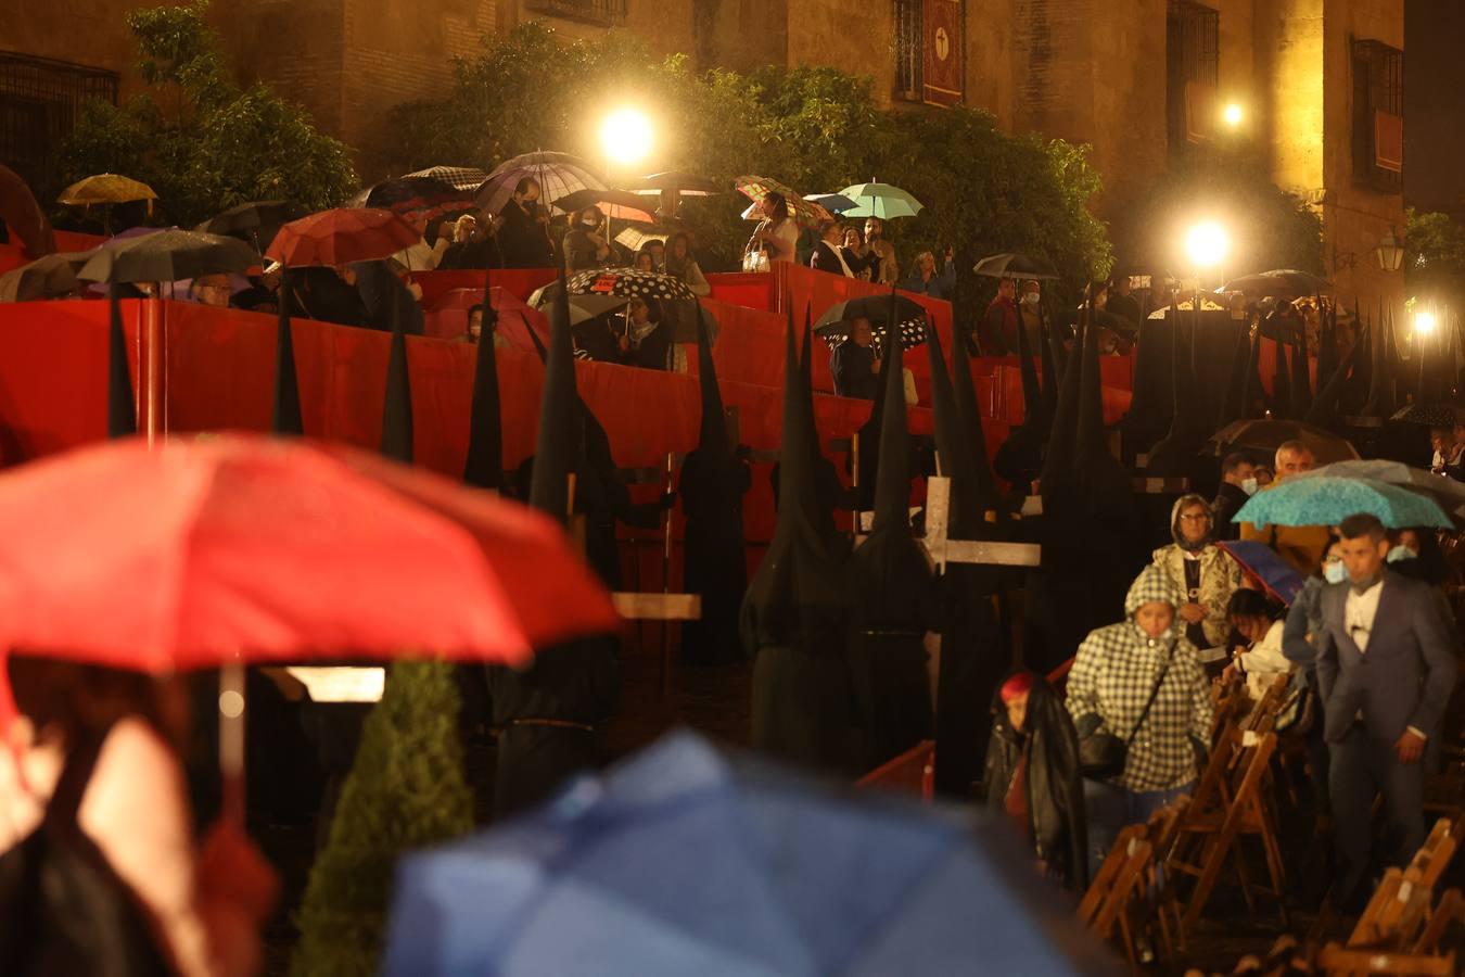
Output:
<instances>
[{"instance_id":1,"label":"leafy green tree at upper left against the building","mask_svg":"<svg viewBox=\"0 0 1465 977\"><path fill-rule=\"evenodd\" d=\"M198 0L127 15L138 70L152 89L125 105L86 103L62 145L51 189L122 173L158 193L160 221L185 227L249 201L314 211L352 193L356 173L346 145L268 88L233 83L204 22L207 9Z\"/></svg>"}]
</instances>

